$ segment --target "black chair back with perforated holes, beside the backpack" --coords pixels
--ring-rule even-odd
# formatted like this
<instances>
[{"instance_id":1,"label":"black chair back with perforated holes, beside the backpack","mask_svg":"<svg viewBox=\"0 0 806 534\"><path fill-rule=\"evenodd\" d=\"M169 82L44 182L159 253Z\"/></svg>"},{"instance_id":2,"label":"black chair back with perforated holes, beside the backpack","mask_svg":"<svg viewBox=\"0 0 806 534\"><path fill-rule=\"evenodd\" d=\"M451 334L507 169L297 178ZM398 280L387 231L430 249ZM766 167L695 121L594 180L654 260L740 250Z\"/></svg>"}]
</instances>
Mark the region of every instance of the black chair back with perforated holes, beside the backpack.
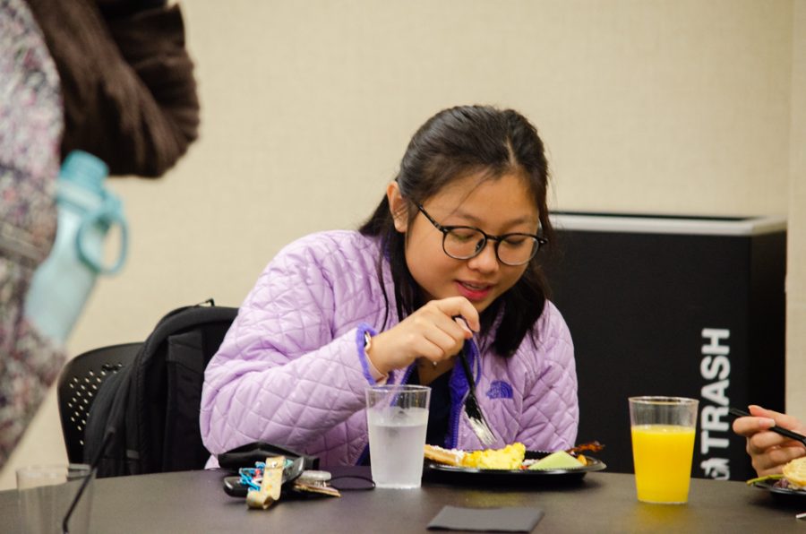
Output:
<instances>
[{"instance_id":1,"label":"black chair back with perforated holes, beside the backpack","mask_svg":"<svg viewBox=\"0 0 806 534\"><path fill-rule=\"evenodd\" d=\"M111 375L132 362L142 343L124 343L84 352L68 361L56 396L67 458L73 463L84 461L84 427L99 387Z\"/></svg>"}]
</instances>

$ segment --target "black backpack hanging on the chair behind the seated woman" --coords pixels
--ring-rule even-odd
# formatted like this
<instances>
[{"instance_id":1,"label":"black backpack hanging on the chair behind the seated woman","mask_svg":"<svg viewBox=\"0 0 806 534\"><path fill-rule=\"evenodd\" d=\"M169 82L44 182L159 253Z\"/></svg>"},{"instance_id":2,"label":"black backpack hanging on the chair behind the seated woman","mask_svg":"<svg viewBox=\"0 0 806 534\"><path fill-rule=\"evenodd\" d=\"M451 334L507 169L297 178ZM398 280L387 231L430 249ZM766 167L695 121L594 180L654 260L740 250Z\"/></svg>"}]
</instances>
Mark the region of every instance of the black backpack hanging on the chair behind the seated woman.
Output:
<instances>
[{"instance_id":1,"label":"black backpack hanging on the chair behind the seated woman","mask_svg":"<svg viewBox=\"0 0 806 534\"><path fill-rule=\"evenodd\" d=\"M98 461L99 478L201 469L210 458L201 383L238 310L208 302L165 315L133 361L99 387L84 430L84 461Z\"/></svg>"}]
</instances>

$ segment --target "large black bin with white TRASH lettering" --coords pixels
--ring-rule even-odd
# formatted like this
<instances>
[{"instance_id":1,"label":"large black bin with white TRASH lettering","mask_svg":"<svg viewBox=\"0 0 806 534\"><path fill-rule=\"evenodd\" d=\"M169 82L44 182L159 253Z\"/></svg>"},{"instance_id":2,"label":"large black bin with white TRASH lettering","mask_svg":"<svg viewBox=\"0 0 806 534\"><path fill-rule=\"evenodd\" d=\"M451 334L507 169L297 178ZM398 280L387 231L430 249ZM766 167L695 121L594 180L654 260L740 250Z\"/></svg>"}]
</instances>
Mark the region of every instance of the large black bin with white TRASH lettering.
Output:
<instances>
[{"instance_id":1,"label":"large black bin with white TRASH lettering","mask_svg":"<svg viewBox=\"0 0 806 534\"><path fill-rule=\"evenodd\" d=\"M692 397L693 476L754 476L727 409L785 408L785 219L558 212L553 225L544 262L576 349L578 443L632 472L627 398Z\"/></svg>"}]
</instances>

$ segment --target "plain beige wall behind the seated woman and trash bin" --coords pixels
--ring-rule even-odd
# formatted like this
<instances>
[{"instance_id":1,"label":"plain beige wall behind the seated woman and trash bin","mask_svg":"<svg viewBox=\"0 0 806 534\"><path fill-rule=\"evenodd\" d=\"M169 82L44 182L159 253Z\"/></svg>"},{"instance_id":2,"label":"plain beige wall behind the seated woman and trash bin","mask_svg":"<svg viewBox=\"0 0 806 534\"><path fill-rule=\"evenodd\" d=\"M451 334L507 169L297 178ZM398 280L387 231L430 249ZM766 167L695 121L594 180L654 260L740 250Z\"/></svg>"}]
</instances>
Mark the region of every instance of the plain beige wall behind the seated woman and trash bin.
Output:
<instances>
[{"instance_id":1,"label":"plain beige wall behind the seated woman and trash bin","mask_svg":"<svg viewBox=\"0 0 806 534\"><path fill-rule=\"evenodd\" d=\"M354 228L416 127L460 103L536 123L553 208L790 211L802 243L803 2L185 3L202 137L164 179L112 183L130 261L99 282L70 349L141 340L163 312L207 297L237 306L281 245ZM802 265L788 278L800 324ZM801 360L803 330L788 338ZM0 487L16 465L62 459L51 393Z\"/></svg>"}]
</instances>

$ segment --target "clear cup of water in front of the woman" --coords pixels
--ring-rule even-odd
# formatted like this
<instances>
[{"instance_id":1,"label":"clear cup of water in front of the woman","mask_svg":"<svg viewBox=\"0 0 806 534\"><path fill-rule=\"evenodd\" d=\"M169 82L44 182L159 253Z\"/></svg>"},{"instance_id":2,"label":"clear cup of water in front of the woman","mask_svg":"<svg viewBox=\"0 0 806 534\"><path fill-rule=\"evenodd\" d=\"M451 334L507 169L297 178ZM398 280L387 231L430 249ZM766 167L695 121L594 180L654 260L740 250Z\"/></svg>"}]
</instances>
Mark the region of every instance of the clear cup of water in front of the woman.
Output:
<instances>
[{"instance_id":1,"label":"clear cup of water in front of the woman","mask_svg":"<svg viewBox=\"0 0 806 534\"><path fill-rule=\"evenodd\" d=\"M378 385L366 390L375 487L420 487L431 388Z\"/></svg>"}]
</instances>

